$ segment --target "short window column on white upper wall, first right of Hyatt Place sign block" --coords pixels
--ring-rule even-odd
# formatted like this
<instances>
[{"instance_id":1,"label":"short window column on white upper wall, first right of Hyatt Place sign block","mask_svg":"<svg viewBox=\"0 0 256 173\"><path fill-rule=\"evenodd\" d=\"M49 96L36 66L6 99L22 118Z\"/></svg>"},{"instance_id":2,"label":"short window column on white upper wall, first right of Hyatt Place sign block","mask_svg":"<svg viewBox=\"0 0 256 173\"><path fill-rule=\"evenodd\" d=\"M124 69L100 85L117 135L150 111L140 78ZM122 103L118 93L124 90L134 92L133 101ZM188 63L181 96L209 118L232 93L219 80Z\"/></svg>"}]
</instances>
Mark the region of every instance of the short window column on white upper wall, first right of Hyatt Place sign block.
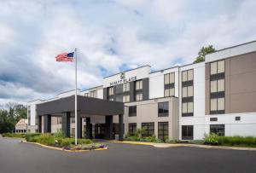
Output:
<instances>
[{"instance_id":1,"label":"short window column on white upper wall, first right of Hyatt Place sign block","mask_svg":"<svg viewBox=\"0 0 256 173\"><path fill-rule=\"evenodd\" d=\"M174 84L175 84L174 72L165 74L165 96L175 95Z\"/></svg>"}]
</instances>

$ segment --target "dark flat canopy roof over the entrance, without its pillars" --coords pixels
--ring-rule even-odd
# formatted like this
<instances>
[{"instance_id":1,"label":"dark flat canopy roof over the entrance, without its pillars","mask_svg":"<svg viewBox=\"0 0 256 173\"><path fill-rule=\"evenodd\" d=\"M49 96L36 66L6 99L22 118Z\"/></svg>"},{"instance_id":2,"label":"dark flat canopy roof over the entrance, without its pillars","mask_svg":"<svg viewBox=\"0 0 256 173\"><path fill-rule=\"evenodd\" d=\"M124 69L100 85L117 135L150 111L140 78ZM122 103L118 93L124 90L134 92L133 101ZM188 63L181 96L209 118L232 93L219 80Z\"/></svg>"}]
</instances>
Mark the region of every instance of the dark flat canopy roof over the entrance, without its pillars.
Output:
<instances>
[{"instance_id":1,"label":"dark flat canopy roof over the entrance, without its pillars","mask_svg":"<svg viewBox=\"0 0 256 173\"><path fill-rule=\"evenodd\" d=\"M39 116L61 112L74 112L75 96L47 101L37 105ZM92 115L118 115L124 114L124 103L108 101L93 97L78 95L78 112Z\"/></svg>"}]
</instances>

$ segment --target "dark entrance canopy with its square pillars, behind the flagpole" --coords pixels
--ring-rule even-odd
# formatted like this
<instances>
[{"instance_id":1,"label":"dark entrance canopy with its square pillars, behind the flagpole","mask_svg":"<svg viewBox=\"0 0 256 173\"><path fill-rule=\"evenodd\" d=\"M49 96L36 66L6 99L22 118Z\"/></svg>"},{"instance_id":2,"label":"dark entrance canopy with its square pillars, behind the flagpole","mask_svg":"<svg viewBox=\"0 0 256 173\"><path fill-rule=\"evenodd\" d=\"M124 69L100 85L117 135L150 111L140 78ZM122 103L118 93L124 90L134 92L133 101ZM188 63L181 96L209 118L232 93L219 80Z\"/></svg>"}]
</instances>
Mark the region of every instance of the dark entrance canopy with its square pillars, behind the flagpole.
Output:
<instances>
[{"instance_id":1,"label":"dark entrance canopy with its square pillars, behind the flagpole","mask_svg":"<svg viewBox=\"0 0 256 173\"><path fill-rule=\"evenodd\" d=\"M64 136L70 136L70 118L74 112L75 96L61 98L55 101L47 101L37 106L38 113L38 131L44 133L51 132L51 118L61 116L61 130ZM94 116L105 117L105 124L96 124L97 137L104 137L104 139L113 139L113 115L119 116L119 141L123 141L124 127L123 127L124 103L117 101L107 101L92 97L85 97L78 95L78 137L82 138L83 118L86 124L85 137L92 138L92 124L90 118ZM42 121L44 118L44 124ZM44 125L44 131L42 131Z\"/></svg>"}]
</instances>

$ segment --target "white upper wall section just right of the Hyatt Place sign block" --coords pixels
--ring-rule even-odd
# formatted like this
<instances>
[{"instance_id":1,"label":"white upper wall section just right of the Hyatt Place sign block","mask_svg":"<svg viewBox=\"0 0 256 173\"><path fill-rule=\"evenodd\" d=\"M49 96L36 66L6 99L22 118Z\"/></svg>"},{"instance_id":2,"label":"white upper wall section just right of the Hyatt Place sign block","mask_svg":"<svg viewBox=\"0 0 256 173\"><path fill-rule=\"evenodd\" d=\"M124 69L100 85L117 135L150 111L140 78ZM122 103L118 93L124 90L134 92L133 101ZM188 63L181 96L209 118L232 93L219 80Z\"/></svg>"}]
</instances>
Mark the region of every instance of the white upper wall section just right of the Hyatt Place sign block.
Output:
<instances>
[{"instance_id":1,"label":"white upper wall section just right of the Hyatt Place sign block","mask_svg":"<svg viewBox=\"0 0 256 173\"><path fill-rule=\"evenodd\" d=\"M149 99L165 96L165 74L171 72L175 72L175 96L178 97L178 69L179 67L175 67L149 74Z\"/></svg>"}]
</instances>

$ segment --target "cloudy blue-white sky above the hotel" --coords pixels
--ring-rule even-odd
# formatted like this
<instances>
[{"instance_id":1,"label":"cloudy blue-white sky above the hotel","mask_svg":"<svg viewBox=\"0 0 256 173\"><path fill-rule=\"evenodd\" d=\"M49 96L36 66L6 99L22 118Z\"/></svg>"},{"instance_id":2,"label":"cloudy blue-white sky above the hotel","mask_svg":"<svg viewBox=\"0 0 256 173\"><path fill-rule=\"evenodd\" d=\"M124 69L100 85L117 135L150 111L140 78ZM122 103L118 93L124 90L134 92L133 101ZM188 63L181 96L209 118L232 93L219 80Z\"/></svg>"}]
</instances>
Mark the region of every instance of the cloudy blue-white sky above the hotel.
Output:
<instances>
[{"instance_id":1,"label":"cloudy blue-white sky above the hotel","mask_svg":"<svg viewBox=\"0 0 256 173\"><path fill-rule=\"evenodd\" d=\"M256 40L255 0L0 0L0 107L74 88L137 66L192 63L202 46Z\"/></svg>"}]
</instances>

